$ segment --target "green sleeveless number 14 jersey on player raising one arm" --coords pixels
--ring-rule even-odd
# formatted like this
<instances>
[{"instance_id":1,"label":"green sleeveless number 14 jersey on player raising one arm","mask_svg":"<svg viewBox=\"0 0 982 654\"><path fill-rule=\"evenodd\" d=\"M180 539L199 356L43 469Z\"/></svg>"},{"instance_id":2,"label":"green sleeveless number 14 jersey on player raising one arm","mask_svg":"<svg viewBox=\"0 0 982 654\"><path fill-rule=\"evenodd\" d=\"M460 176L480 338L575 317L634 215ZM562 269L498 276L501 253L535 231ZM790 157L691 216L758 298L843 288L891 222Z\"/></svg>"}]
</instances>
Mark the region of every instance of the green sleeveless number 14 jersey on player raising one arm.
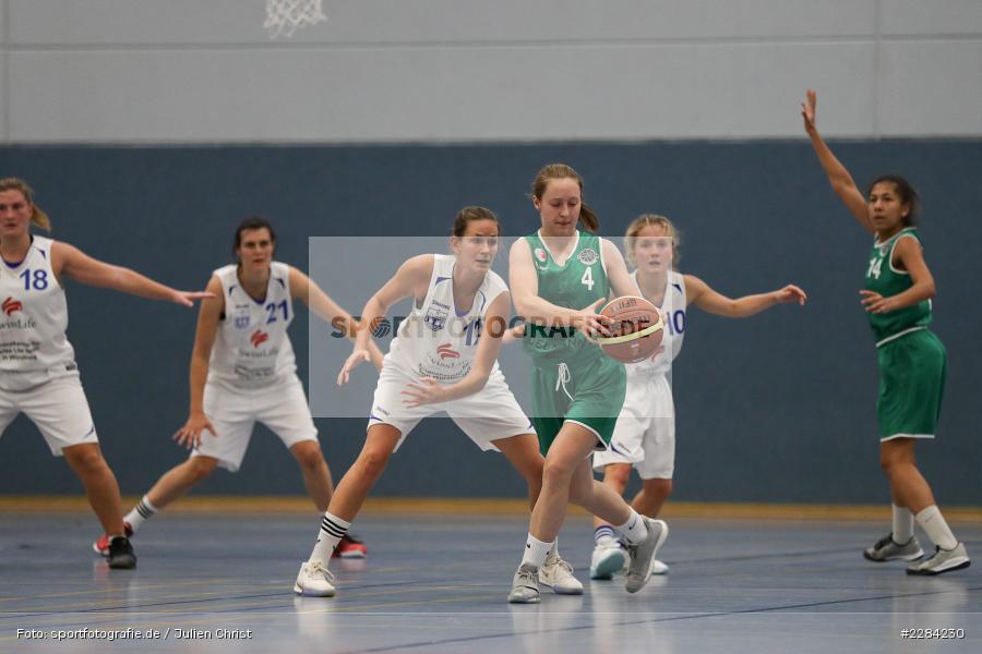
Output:
<instances>
[{"instance_id":1,"label":"green sleeveless number 14 jersey on player raising one arm","mask_svg":"<svg viewBox=\"0 0 982 654\"><path fill-rule=\"evenodd\" d=\"M918 230L912 227L901 229L882 243L876 241L873 244L873 253L866 267L866 290L879 293L884 298L891 298L913 286L910 272L895 268L893 264L894 249L900 239L907 238L917 241L920 247L921 239L918 237ZM876 338L876 347L879 347L901 332L926 327L931 323L931 300L898 311L885 314L870 313L866 316Z\"/></svg>"}]
</instances>

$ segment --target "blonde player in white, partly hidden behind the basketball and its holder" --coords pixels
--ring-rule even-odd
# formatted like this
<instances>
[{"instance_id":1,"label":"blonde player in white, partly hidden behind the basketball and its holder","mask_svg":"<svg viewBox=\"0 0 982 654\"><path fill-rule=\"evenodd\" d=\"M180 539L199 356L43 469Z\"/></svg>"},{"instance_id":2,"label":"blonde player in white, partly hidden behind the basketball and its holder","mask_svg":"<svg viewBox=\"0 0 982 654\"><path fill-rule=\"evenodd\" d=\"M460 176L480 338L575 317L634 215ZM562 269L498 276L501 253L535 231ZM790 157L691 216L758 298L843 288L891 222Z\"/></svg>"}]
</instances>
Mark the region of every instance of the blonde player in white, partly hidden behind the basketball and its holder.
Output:
<instances>
[{"instance_id":1,"label":"blonde player in white, partly hidden behind the basketball and its holder","mask_svg":"<svg viewBox=\"0 0 982 654\"><path fill-rule=\"evenodd\" d=\"M679 232L663 217L646 214L636 218L624 237L627 261L645 299L660 307L666 330L659 353L648 361L626 364L627 395L618 416L610 450L594 455L594 470L603 472L603 483L623 494L631 469L637 470L642 489L631 506L643 516L656 517L672 489L675 467L675 407L668 378L672 361L682 351L686 307L694 303L711 314L742 318L776 304L804 304L805 293L786 286L769 293L731 300L712 290L694 275L674 269ZM594 519L595 548L590 559L590 579L610 579L625 560L626 552L614 530ZM652 574L664 574L668 566L655 561Z\"/></svg>"}]
</instances>

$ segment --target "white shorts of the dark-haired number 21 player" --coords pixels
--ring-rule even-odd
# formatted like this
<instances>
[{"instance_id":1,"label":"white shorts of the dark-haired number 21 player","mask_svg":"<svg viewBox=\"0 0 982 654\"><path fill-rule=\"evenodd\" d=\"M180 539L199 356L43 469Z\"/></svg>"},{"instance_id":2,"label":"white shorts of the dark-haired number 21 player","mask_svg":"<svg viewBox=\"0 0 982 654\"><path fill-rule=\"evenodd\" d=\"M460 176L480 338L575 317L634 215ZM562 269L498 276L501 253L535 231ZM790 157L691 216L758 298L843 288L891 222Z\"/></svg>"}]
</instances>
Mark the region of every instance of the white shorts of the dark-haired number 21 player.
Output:
<instances>
[{"instance_id":1,"label":"white shorts of the dark-haired number 21 player","mask_svg":"<svg viewBox=\"0 0 982 654\"><path fill-rule=\"evenodd\" d=\"M218 465L229 472L238 471L242 464L256 421L279 436L287 448L303 440L318 440L318 428L297 375L275 386L254 390L207 383L204 412L217 436L205 429L201 445L191 456L218 459Z\"/></svg>"}]
</instances>

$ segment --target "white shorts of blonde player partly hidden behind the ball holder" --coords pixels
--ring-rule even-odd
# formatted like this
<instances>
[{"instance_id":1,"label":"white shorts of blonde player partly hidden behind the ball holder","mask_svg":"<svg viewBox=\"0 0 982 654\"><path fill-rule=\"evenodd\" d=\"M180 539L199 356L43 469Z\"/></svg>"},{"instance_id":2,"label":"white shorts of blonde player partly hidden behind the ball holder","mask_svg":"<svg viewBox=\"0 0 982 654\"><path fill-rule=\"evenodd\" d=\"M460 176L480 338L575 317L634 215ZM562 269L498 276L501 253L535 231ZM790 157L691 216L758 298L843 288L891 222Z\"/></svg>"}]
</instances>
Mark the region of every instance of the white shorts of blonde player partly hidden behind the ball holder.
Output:
<instances>
[{"instance_id":1,"label":"white shorts of blonde player partly hidden behind the ball holder","mask_svg":"<svg viewBox=\"0 0 982 654\"><path fill-rule=\"evenodd\" d=\"M594 470L630 463L643 480L670 480L675 471L675 405L664 375L627 382L624 408L610 439L610 449L594 455Z\"/></svg>"}]
</instances>

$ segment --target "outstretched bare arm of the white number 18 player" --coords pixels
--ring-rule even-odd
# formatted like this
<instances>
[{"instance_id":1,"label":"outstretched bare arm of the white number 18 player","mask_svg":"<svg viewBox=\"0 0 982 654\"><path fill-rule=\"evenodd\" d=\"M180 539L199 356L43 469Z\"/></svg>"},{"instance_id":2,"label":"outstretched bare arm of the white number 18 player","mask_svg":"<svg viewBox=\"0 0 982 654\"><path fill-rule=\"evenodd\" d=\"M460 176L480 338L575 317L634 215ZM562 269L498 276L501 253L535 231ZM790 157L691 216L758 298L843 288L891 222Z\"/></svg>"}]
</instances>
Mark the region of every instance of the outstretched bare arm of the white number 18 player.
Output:
<instances>
[{"instance_id":1,"label":"outstretched bare arm of the white number 18 player","mask_svg":"<svg viewBox=\"0 0 982 654\"><path fill-rule=\"evenodd\" d=\"M51 247L51 264L56 275L64 275L88 286L104 287L151 300L166 300L192 306L195 300L214 298L214 294L208 292L175 290L135 270L94 259L77 247L60 241L56 241Z\"/></svg>"}]
</instances>

